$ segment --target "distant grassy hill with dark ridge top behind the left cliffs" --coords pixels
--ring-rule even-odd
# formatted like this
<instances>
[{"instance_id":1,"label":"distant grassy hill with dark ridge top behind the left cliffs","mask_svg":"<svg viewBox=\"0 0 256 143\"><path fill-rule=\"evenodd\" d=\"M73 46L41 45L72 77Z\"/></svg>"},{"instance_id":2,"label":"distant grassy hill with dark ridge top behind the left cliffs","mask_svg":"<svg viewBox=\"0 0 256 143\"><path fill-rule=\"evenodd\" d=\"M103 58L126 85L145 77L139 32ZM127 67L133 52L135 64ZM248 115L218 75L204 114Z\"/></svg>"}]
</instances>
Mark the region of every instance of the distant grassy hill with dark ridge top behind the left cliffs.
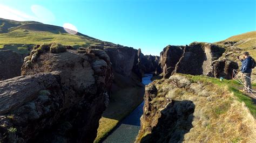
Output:
<instances>
[{"instance_id":1,"label":"distant grassy hill with dark ridge top behind the left cliffs","mask_svg":"<svg viewBox=\"0 0 256 143\"><path fill-rule=\"evenodd\" d=\"M69 34L63 27L39 22L17 22L0 18L0 49L11 49L25 56L36 44L59 42L63 45L87 47L113 45L82 33Z\"/></svg>"}]
</instances>

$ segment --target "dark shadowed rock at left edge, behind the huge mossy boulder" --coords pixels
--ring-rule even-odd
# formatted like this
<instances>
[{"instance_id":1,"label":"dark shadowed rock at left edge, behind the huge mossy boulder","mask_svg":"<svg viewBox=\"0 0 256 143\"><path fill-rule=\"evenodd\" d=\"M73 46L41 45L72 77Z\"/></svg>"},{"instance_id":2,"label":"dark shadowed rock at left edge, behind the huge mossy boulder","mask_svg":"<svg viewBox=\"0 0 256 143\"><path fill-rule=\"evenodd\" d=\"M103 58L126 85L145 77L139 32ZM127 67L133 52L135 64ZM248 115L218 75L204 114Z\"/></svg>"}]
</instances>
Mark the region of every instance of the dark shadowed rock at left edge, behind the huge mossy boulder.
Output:
<instances>
[{"instance_id":1,"label":"dark shadowed rock at left edge, behind the huge mossy boulder","mask_svg":"<svg viewBox=\"0 0 256 143\"><path fill-rule=\"evenodd\" d=\"M21 75L22 56L11 50L0 50L0 81Z\"/></svg>"}]
</instances>

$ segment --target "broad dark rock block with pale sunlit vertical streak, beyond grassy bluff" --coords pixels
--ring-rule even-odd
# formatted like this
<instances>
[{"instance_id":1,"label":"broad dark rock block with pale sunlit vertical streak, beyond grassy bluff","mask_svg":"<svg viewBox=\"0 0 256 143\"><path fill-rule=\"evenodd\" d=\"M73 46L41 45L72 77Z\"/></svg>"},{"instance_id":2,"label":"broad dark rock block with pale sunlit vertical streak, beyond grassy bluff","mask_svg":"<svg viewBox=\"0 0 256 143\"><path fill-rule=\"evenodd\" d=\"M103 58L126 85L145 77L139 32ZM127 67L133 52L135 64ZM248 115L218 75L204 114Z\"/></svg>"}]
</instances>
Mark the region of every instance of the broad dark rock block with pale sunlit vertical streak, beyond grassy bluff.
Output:
<instances>
[{"instance_id":1,"label":"broad dark rock block with pale sunlit vertical streak, beyond grassy bluff","mask_svg":"<svg viewBox=\"0 0 256 143\"><path fill-rule=\"evenodd\" d=\"M212 71L212 62L224 52L224 48L214 44L193 42L185 47L174 73L208 75Z\"/></svg>"}]
</instances>

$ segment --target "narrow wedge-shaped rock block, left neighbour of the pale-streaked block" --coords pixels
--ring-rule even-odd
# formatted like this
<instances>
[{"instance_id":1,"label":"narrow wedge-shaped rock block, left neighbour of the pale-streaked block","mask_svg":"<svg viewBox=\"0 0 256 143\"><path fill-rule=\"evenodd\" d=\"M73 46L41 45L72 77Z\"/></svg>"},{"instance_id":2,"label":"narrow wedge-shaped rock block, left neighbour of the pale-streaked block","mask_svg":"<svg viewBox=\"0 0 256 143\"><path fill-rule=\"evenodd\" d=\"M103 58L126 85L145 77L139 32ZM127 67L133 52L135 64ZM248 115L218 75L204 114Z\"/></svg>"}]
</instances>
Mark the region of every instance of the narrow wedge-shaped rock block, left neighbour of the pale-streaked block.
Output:
<instances>
[{"instance_id":1,"label":"narrow wedge-shaped rock block, left neighbour of the pale-streaked block","mask_svg":"<svg viewBox=\"0 0 256 143\"><path fill-rule=\"evenodd\" d=\"M183 55L184 48L184 46L168 45L164 48L163 52L160 53L160 63L161 68L163 69L164 78L169 78L171 76L177 62Z\"/></svg>"}]
</instances>

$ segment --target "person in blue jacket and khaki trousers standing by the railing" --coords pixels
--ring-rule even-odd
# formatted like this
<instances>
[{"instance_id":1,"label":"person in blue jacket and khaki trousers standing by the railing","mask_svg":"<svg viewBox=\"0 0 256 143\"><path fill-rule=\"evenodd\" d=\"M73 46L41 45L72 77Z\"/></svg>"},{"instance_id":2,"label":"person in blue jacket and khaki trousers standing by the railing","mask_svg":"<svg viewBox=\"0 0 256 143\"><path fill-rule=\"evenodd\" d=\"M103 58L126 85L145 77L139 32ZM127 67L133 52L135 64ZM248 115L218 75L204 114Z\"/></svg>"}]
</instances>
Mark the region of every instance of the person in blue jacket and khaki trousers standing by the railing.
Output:
<instances>
[{"instance_id":1,"label":"person in blue jacket and khaki trousers standing by the railing","mask_svg":"<svg viewBox=\"0 0 256 143\"><path fill-rule=\"evenodd\" d=\"M242 72L242 78L245 84L244 91L250 93L252 90L252 83L251 83L252 57L250 56L249 52L244 52L242 56L243 56L242 59L239 56L238 56L238 59L242 62L241 72Z\"/></svg>"}]
</instances>

